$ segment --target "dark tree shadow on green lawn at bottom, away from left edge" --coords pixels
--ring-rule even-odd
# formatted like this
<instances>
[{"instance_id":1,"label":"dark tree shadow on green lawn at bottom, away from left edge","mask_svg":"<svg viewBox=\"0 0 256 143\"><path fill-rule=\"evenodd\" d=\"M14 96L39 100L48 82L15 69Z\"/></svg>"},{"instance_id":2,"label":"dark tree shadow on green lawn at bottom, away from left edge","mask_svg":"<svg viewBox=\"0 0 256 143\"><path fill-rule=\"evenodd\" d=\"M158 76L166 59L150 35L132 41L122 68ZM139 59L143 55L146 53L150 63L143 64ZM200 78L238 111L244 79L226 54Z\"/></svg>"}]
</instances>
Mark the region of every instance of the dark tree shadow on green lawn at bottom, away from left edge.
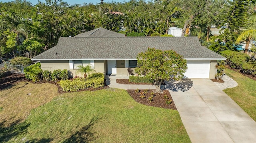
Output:
<instances>
[{"instance_id":1,"label":"dark tree shadow on green lawn at bottom, away from left edge","mask_svg":"<svg viewBox=\"0 0 256 143\"><path fill-rule=\"evenodd\" d=\"M82 127L79 131L73 133L68 139L62 143L87 143L88 141L94 141L94 133L91 131L92 126L97 123L99 117L91 119L88 125Z\"/></svg>"}]
</instances>

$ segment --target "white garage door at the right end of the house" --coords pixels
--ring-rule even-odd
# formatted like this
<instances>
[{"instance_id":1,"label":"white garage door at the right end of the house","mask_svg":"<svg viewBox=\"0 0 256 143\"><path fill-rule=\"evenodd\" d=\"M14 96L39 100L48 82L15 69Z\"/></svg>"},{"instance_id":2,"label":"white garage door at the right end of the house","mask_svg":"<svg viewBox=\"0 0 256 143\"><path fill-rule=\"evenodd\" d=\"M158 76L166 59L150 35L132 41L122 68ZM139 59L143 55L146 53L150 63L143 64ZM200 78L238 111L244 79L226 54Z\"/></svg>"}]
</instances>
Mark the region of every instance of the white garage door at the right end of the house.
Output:
<instances>
[{"instance_id":1,"label":"white garage door at the right end of the house","mask_svg":"<svg viewBox=\"0 0 256 143\"><path fill-rule=\"evenodd\" d=\"M209 78L210 60L187 60L186 78Z\"/></svg>"}]
</instances>

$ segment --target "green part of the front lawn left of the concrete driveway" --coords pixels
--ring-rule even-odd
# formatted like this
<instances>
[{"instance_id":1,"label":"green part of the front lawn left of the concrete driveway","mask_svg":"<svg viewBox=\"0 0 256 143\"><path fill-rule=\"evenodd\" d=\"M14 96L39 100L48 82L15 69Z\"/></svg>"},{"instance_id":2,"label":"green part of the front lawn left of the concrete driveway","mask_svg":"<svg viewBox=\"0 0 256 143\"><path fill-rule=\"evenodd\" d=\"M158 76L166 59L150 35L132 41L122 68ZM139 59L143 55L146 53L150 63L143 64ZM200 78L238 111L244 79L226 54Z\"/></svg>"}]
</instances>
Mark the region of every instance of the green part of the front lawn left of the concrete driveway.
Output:
<instances>
[{"instance_id":1,"label":"green part of the front lawn left of the concrete driveway","mask_svg":"<svg viewBox=\"0 0 256 143\"><path fill-rule=\"evenodd\" d=\"M11 93L17 89L8 90ZM33 109L23 122L8 127L1 125L0 140L29 143L191 142L178 111L139 104L126 90L115 88L59 94Z\"/></svg>"}]
</instances>

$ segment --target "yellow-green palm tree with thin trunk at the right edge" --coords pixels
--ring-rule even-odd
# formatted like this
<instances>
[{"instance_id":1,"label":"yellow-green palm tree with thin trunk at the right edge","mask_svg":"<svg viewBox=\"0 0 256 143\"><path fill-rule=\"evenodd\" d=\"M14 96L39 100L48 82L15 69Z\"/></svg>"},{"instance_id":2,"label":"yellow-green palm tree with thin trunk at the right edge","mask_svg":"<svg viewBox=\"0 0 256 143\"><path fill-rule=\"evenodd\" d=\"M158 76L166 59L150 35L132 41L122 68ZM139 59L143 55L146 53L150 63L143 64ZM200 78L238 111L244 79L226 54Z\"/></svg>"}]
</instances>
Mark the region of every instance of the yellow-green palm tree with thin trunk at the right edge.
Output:
<instances>
[{"instance_id":1,"label":"yellow-green palm tree with thin trunk at the right edge","mask_svg":"<svg viewBox=\"0 0 256 143\"><path fill-rule=\"evenodd\" d=\"M256 39L256 29L244 30L244 31L242 31L242 33L236 39L236 43L237 44L240 43L240 41L243 41L243 40L246 41L244 53L247 53L248 47L249 47L249 43L250 43L251 39Z\"/></svg>"}]
</instances>

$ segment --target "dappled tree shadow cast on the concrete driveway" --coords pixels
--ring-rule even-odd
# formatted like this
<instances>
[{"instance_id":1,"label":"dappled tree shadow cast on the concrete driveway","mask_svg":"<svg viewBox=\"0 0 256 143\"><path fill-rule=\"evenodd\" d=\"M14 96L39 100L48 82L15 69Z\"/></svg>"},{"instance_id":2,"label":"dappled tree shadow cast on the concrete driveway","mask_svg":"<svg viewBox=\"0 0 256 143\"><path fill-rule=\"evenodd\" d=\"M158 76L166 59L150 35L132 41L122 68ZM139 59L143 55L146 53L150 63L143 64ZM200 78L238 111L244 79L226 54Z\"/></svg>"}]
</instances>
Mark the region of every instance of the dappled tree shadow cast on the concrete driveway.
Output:
<instances>
[{"instance_id":1,"label":"dappled tree shadow cast on the concrete driveway","mask_svg":"<svg viewBox=\"0 0 256 143\"><path fill-rule=\"evenodd\" d=\"M178 92L179 90L185 92L193 86L193 81L191 79L182 79L180 81L170 80L165 81L163 89L171 90L173 92Z\"/></svg>"}]
</instances>

